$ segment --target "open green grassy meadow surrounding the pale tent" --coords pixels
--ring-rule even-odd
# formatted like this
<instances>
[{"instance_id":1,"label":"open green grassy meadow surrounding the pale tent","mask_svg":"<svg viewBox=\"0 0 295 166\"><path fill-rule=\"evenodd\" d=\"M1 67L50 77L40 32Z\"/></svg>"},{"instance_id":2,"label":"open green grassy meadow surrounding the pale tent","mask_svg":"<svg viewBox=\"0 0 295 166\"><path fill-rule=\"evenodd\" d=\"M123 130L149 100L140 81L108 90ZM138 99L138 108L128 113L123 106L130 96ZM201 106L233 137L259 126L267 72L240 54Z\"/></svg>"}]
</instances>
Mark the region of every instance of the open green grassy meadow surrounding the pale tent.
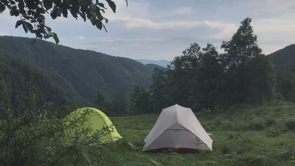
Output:
<instances>
[{"instance_id":1,"label":"open green grassy meadow surrounding the pale tent","mask_svg":"<svg viewBox=\"0 0 295 166\"><path fill-rule=\"evenodd\" d=\"M274 101L197 113L213 133L213 153L142 153L158 114L111 117L123 139L103 150L101 165L295 165L295 104ZM289 155L277 156L288 151Z\"/></svg>"}]
</instances>

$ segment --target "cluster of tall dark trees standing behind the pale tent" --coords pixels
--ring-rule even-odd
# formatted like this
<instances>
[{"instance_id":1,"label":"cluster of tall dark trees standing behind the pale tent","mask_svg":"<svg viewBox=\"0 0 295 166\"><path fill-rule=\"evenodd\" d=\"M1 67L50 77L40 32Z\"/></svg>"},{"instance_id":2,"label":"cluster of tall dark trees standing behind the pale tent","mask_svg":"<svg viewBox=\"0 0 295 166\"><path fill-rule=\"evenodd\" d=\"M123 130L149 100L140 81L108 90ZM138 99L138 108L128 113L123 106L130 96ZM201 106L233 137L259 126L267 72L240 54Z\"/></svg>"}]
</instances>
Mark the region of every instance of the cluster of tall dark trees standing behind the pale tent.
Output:
<instances>
[{"instance_id":1,"label":"cluster of tall dark trees standing behind the pale tent","mask_svg":"<svg viewBox=\"0 0 295 166\"><path fill-rule=\"evenodd\" d=\"M212 44L201 48L193 43L167 69L155 69L149 91L135 87L130 111L160 112L173 104L194 111L213 111L216 106L226 108L280 99L280 92L286 96L284 93L289 90L284 89L282 82L278 87L277 71L270 58L262 54L250 23L251 18L245 18L231 40L223 41L223 53Z\"/></svg>"}]
</instances>

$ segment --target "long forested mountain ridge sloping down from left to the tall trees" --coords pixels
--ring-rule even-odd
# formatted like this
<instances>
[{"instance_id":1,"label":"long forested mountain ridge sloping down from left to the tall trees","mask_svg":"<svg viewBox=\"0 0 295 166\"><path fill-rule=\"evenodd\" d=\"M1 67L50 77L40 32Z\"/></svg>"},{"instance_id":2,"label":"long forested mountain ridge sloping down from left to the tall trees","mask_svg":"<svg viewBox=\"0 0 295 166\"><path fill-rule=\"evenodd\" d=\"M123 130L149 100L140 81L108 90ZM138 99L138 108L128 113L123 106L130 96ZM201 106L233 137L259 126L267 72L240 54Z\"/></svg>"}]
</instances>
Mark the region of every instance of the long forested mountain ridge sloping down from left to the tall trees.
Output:
<instances>
[{"instance_id":1,"label":"long forested mountain ridge sloping down from left to the tall trees","mask_svg":"<svg viewBox=\"0 0 295 166\"><path fill-rule=\"evenodd\" d=\"M36 42L32 43L33 40ZM3 60L0 79L6 80L12 88L21 89L20 84L16 86L16 82L24 79L20 66L26 70L33 68L44 78L39 80L40 86L45 86L44 82L51 82L46 84L48 87L34 87L39 96L46 96L46 93L50 95L48 89L52 94L58 90L58 95L48 99L74 101L80 106L94 106L99 92L111 99L115 94L129 97L135 85L150 87L152 70L156 67L125 57L11 36L0 36L0 58ZM13 73L16 75L13 76ZM19 94L13 95L19 97Z\"/></svg>"}]
</instances>

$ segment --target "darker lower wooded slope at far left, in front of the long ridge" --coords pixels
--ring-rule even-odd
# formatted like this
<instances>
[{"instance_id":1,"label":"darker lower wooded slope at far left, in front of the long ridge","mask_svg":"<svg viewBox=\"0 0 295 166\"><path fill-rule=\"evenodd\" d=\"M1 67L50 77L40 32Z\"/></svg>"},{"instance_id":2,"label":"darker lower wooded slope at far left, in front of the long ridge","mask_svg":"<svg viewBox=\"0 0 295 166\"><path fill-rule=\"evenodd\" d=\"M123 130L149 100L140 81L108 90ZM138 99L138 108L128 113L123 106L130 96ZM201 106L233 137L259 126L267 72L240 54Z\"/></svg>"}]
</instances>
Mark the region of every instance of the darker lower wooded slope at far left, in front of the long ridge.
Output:
<instances>
[{"instance_id":1,"label":"darker lower wooded slope at far left, in front of the long ridge","mask_svg":"<svg viewBox=\"0 0 295 166\"><path fill-rule=\"evenodd\" d=\"M81 100L77 99L77 94L70 95L71 92L66 92L66 89L62 89L60 85L43 72L40 72L40 70L33 70L33 76L30 77L30 82L28 82L31 67L23 62L0 57L0 66L0 79L5 80L8 89L12 89L11 104L14 111L16 111L16 116L20 116L21 111L24 111L22 106L26 107L24 104L28 103L26 100L29 99L35 100L33 107L41 107L46 101L50 101L55 106L60 107ZM27 86L23 84L24 80L27 80ZM31 85L30 89L28 89L29 84ZM24 96L29 96L29 98L25 99ZM81 102L77 103L81 104Z\"/></svg>"}]
</instances>

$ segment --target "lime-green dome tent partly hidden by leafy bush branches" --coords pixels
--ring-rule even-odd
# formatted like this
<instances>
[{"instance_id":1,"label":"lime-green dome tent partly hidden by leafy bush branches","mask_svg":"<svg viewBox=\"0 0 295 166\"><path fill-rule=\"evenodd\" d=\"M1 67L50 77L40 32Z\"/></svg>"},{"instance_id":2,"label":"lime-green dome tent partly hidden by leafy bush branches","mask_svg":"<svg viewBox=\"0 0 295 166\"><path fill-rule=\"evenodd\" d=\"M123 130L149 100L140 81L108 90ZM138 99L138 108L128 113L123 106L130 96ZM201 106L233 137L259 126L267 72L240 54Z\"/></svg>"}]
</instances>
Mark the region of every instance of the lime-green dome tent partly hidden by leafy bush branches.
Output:
<instances>
[{"instance_id":1,"label":"lime-green dome tent partly hidden by leafy bush branches","mask_svg":"<svg viewBox=\"0 0 295 166\"><path fill-rule=\"evenodd\" d=\"M90 134L93 134L102 128L107 128L109 132L106 135L101 136L101 142L112 143L122 138L115 126L113 126L111 119L108 118L104 112L91 107L85 107L82 109L77 109L76 111L72 111L71 114L65 117L65 124L69 124L69 121L74 121L74 119L80 118L86 111L88 111L89 114L85 116L84 127L91 128ZM75 125L77 125L77 123L75 123Z\"/></svg>"}]
</instances>

